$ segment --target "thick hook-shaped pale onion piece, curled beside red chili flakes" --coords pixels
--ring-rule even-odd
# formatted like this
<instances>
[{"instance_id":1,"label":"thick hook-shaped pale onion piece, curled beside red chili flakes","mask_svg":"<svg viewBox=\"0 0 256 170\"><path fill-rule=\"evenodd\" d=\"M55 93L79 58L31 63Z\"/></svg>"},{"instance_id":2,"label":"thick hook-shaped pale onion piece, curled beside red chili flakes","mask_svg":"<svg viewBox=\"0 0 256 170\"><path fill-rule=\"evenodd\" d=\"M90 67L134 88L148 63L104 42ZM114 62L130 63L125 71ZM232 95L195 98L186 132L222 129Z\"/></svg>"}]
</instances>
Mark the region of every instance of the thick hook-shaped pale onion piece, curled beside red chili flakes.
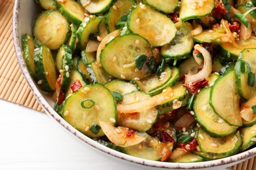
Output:
<instances>
[{"instance_id":1,"label":"thick hook-shaped pale onion piece, curled beside red chili flakes","mask_svg":"<svg viewBox=\"0 0 256 170\"><path fill-rule=\"evenodd\" d=\"M203 69L198 73L196 73L195 75L190 75L190 74L185 75L185 82L184 82L185 84L189 84L189 83L201 80L203 78L207 78L209 75L211 75L211 71L213 69L211 54L205 48L203 48L203 46L200 46L199 44L196 44L194 46L194 49L198 50L203 55L203 59L204 59ZM198 58L196 57L197 54L193 53L193 55L194 55L194 58Z\"/></svg>"}]
</instances>

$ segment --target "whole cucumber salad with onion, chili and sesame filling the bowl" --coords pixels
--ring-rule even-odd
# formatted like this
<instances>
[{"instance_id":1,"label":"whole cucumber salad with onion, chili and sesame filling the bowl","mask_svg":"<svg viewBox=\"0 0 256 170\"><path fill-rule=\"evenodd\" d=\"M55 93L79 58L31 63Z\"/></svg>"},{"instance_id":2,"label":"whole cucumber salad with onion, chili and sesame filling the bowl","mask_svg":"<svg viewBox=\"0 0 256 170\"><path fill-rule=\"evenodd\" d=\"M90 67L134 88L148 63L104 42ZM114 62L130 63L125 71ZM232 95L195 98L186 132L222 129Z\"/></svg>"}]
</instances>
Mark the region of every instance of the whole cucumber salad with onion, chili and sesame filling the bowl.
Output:
<instances>
[{"instance_id":1,"label":"whole cucumber salad with onion, chili and sesame filling the bowl","mask_svg":"<svg viewBox=\"0 0 256 170\"><path fill-rule=\"evenodd\" d=\"M24 60L78 131L156 161L255 147L255 0L36 1Z\"/></svg>"}]
</instances>

